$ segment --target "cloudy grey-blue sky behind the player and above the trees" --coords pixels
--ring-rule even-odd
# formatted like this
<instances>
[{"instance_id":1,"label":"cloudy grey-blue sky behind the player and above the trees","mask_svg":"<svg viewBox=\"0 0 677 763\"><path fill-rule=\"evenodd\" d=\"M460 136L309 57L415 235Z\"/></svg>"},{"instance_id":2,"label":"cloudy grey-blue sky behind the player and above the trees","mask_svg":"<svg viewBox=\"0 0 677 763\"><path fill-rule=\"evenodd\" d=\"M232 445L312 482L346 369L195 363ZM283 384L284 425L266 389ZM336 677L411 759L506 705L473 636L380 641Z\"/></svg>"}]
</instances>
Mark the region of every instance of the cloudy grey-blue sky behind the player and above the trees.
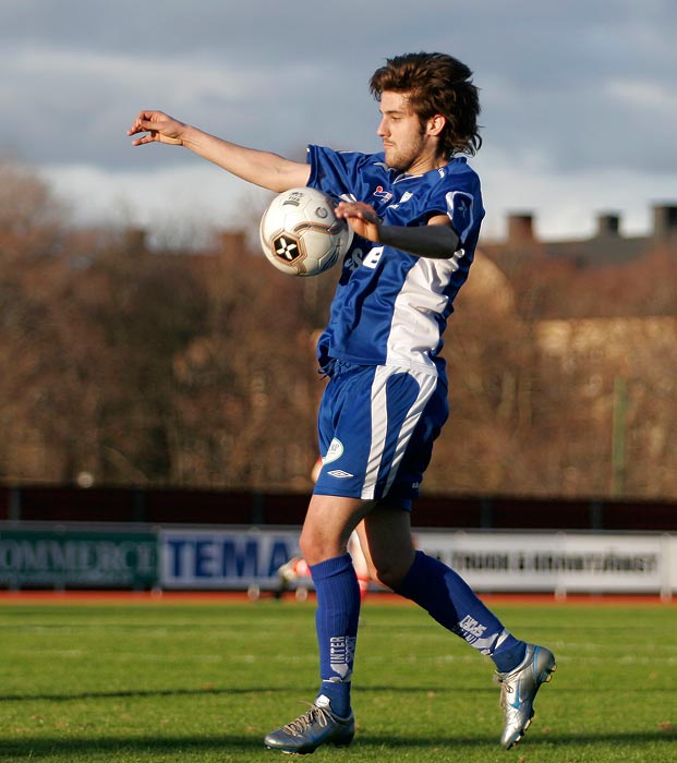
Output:
<instances>
[{"instance_id":1,"label":"cloudy grey-blue sky behind the player and above the trees","mask_svg":"<svg viewBox=\"0 0 677 763\"><path fill-rule=\"evenodd\" d=\"M450 52L481 88L485 234L532 211L584 238L642 234L677 203L675 0L0 0L0 155L82 222L237 226L266 196L189 152L133 148L158 108L300 158L378 150L367 92L386 57Z\"/></svg>"}]
</instances>

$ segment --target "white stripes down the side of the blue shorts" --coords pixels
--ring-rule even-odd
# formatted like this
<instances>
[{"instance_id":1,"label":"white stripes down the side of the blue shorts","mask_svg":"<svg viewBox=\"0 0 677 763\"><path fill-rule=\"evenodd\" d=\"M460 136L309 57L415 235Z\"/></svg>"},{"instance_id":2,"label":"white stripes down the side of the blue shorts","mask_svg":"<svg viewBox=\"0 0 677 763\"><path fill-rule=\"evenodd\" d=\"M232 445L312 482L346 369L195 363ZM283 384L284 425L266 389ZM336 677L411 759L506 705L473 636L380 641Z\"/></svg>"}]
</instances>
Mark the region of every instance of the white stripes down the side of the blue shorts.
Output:
<instances>
[{"instance_id":1,"label":"white stripes down the side of the blue shorts","mask_svg":"<svg viewBox=\"0 0 677 763\"><path fill-rule=\"evenodd\" d=\"M397 445L390 462L390 471L383 494L386 495L397 476L397 470L404 456L409 440L413 434L421 414L425 410L428 400L437 387L437 377L432 376L428 371L412 371L411 368L398 368L395 366L380 365L376 368L374 379L372 382L372 444L370 456L366 463L364 474L364 483L362 485L361 498L363 500L372 500L378 473L380 471L383 453L386 447L386 436L388 434L388 407L387 407L387 384L388 378L394 374L408 373L419 384L419 395L415 401L409 409L407 417L402 422L399 431Z\"/></svg>"}]
</instances>

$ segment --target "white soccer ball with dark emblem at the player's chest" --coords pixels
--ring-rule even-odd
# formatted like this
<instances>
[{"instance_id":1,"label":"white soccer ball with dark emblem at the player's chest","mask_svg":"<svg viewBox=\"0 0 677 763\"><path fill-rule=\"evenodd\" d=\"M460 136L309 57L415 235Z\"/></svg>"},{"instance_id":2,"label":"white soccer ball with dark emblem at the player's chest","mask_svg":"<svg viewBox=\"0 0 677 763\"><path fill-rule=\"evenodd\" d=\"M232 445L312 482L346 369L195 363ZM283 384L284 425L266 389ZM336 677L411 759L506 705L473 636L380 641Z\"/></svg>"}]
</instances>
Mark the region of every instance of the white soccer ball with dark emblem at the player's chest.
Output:
<instances>
[{"instance_id":1,"label":"white soccer ball with dark emblem at the player's chest","mask_svg":"<svg viewBox=\"0 0 677 763\"><path fill-rule=\"evenodd\" d=\"M329 196L310 187L285 191L270 202L261 219L261 245L278 270L317 276L348 252L352 229L334 207Z\"/></svg>"}]
</instances>

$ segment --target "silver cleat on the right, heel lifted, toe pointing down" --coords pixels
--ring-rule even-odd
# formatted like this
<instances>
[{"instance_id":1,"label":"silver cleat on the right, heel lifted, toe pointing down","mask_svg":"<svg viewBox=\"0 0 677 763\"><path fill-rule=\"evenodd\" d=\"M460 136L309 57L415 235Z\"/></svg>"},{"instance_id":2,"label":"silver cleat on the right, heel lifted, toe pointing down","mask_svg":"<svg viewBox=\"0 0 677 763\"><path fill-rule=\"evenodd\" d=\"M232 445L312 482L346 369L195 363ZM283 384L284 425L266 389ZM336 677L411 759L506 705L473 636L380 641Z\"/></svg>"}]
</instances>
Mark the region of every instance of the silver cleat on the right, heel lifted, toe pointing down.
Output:
<instances>
[{"instance_id":1,"label":"silver cleat on the right, heel lifted, toe pointing down","mask_svg":"<svg viewBox=\"0 0 677 763\"><path fill-rule=\"evenodd\" d=\"M512 673L498 673L500 706L505 727L500 746L509 750L524 736L533 717L533 701L542 683L547 683L556 670L555 655L545 646L527 644L527 655Z\"/></svg>"}]
</instances>

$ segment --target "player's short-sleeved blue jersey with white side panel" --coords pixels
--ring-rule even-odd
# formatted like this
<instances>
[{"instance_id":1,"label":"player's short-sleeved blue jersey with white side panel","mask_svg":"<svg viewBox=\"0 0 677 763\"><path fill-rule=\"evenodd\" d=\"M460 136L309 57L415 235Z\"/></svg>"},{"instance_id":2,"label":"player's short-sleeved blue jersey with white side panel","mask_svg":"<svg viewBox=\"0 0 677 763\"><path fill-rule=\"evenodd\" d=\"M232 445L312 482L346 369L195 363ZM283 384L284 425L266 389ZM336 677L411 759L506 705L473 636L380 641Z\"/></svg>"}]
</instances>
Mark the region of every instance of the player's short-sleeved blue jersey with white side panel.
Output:
<instances>
[{"instance_id":1,"label":"player's short-sleeved blue jersey with white side panel","mask_svg":"<svg viewBox=\"0 0 677 763\"><path fill-rule=\"evenodd\" d=\"M309 185L335 198L371 204L384 225L425 226L448 215L460 243L448 259L418 257L354 237L343 258L327 328L317 344L331 359L444 370L443 332L468 277L484 217L480 179L464 158L421 175L388 169L383 154L309 146Z\"/></svg>"}]
</instances>

